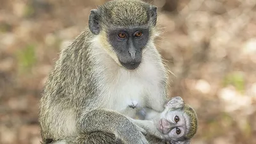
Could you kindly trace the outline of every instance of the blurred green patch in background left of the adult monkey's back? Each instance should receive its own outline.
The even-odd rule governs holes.
[[[36,62],[35,46],[27,45],[24,49],[18,51],[17,59],[21,71],[30,70]]]

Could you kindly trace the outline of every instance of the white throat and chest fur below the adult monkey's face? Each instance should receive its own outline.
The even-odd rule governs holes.
[[[95,38],[96,41],[97,38]],[[145,106],[146,98],[154,100],[153,103],[161,104],[163,100],[163,91],[165,88],[163,81],[166,79],[166,70],[161,62],[161,56],[157,52],[153,44],[148,46],[143,52],[141,64],[136,70],[127,70],[120,67],[104,49],[100,48],[100,42],[95,45],[98,49],[92,51],[97,56],[95,61],[104,63],[104,68],[98,70],[100,74],[104,74],[102,85],[100,86],[103,107],[114,111],[122,111],[131,104],[131,100],[138,102],[140,106]],[[100,59],[99,59],[100,58]],[[157,101],[158,100],[158,101]],[[155,106],[156,110],[163,106]]]

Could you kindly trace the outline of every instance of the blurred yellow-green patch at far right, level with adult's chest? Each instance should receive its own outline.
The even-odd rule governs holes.
[[[237,91],[241,93],[243,93],[245,89],[244,83],[244,76],[241,72],[232,72],[230,74],[227,74],[223,81],[224,86],[232,85],[236,88]]]

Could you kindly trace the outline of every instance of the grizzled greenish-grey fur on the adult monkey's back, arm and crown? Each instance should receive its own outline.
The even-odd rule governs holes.
[[[115,4],[118,7],[111,8]],[[110,1],[99,6],[102,12],[106,12],[106,17],[100,19],[105,24],[102,26],[108,26],[106,22],[109,21],[113,22],[112,28],[147,24],[148,13],[145,10],[148,7],[150,4],[135,0]],[[128,8],[132,11],[126,12]],[[138,15],[134,10],[141,14]],[[152,29],[150,28],[150,31]],[[117,144],[121,143],[120,141],[140,141],[138,136],[142,134],[136,125],[124,115],[104,109],[103,104],[108,97],[99,97],[99,93],[102,88],[100,82],[105,79],[101,74],[105,72],[106,65],[97,61],[99,55],[93,53],[93,38],[95,35],[85,28],[72,44],[60,52],[60,58],[49,74],[40,100],[39,122],[42,143],[51,142],[49,139],[53,140],[52,142],[63,140],[68,144]],[[167,76],[166,81],[163,81],[163,87],[167,92]],[[72,132],[67,128],[68,124],[64,121],[67,116],[76,120],[76,131]],[[98,130],[95,131],[95,128]],[[70,134],[67,134],[68,132]],[[123,140],[113,138],[115,135]]]

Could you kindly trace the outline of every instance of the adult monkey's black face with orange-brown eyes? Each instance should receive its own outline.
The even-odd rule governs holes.
[[[108,31],[112,45],[121,65],[134,70],[141,63],[142,49],[147,45],[149,31],[145,28],[126,28]]]

